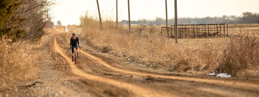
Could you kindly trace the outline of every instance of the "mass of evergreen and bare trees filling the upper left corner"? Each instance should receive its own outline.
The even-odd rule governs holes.
[[[1,0],[0,38],[38,40],[51,22],[50,6],[55,0]]]

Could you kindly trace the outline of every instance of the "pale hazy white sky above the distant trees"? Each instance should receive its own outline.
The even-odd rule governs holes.
[[[116,20],[116,0],[98,0],[101,17]],[[119,21],[128,20],[128,0],[118,0]],[[96,0],[58,0],[52,7],[53,22],[79,24],[86,11],[98,12]],[[174,0],[167,0],[168,18],[174,17]],[[177,0],[178,17],[241,16],[243,12],[259,13],[259,0]],[[97,15],[98,14],[92,14]],[[130,19],[166,18],[165,0],[130,0]]]

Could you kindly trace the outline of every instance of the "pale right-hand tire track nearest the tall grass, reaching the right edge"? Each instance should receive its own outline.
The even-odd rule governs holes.
[[[68,37],[68,35],[69,35],[69,33],[66,34],[66,37]],[[68,38],[67,38],[67,41],[69,42]],[[152,76],[152,77],[156,77],[156,78],[166,78],[166,79],[174,79],[174,80],[182,80],[182,81],[206,82],[206,83],[213,83],[213,84],[225,84],[225,85],[231,85],[231,86],[236,86],[236,87],[248,87],[248,88],[259,89],[259,84],[255,84],[255,83],[247,83],[247,82],[240,82],[240,81],[225,81],[225,80],[216,80],[216,79],[210,80],[210,79],[200,79],[200,78],[191,78],[191,77],[162,76],[162,75],[146,74],[146,73],[133,72],[133,71],[129,71],[129,70],[123,70],[123,69],[108,65],[101,58],[90,55],[89,53],[86,53],[85,51],[79,50],[79,52],[85,54],[86,56],[88,56],[89,58],[92,58],[93,60],[96,60],[96,62],[110,68],[111,70],[118,71],[118,72],[128,74],[128,75]],[[116,63],[114,63],[114,64],[116,64]],[[116,65],[118,65],[118,64],[116,64]]]

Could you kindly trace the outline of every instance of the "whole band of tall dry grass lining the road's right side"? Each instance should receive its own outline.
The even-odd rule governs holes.
[[[241,72],[259,71],[256,60],[259,59],[259,42],[256,35],[242,38],[179,39],[179,44],[175,44],[174,39],[161,36],[125,34],[114,29],[113,25],[114,23],[104,24],[105,29],[100,30],[97,19],[82,16],[82,38],[90,45],[110,53],[123,52],[129,59],[138,60],[139,64],[145,64],[148,68],[203,74],[219,71],[236,77],[245,74]],[[249,75],[253,76],[252,73]]]

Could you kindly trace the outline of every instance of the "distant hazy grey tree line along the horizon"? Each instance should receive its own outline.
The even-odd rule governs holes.
[[[128,20],[122,20],[121,24],[128,24]],[[204,17],[204,18],[191,18],[182,17],[178,18],[178,24],[254,24],[259,23],[259,13],[243,12],[241,16],[215,16],[215,17]],[[166,19],[161,17],[155,17],[154,20],[139,19],[138,21],[131,21],[131,24],[139,25],[166,25]],[[174,24],[174,18],[168,19],[168,25]]]

